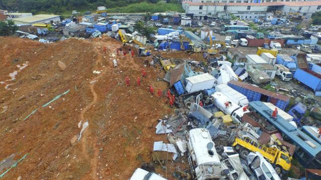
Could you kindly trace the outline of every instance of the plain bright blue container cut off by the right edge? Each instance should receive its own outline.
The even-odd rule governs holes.
[[[309,86],[314,92],[321,91],[321,75],[309,69],[297,68],[293,77]]]

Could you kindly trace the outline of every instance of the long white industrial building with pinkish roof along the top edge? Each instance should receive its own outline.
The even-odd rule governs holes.
[[[263,1],[263,0],[262,0]],[[267,0],[266,0],[267,1]],[[217,16],[218,13],[248,13],[243,15],[243,19],[257,18],[262,12],[279,10],[284,14],[289,12],[302,13],[303,16],[310,17],[313,12],[321,10],[321,0],[317,1],[274,1],[260,3],[222,3],[222,2],[191,2],[185,1],[182,3],[187,14],[193,14],[198,19],[204,19],[205,16]],[[253,15],[251,15],[253,14]]]

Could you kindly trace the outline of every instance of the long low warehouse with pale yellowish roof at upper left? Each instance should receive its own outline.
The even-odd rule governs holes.
[[[60,21],[60,15],[51,15],[51,14],[38,14],[29,17],[14,18],[13,21],[18,26],[20,25],[32,25],[33,23],[39,22],[58,22]]]

